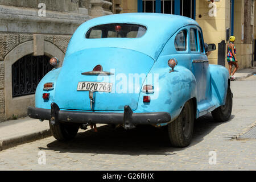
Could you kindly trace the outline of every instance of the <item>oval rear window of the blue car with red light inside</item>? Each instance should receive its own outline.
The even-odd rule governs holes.
[[[90,28],[86,33],[86,39],[101,38],[141,38],[147,28],[138,24],[112,23],[101,24]]]

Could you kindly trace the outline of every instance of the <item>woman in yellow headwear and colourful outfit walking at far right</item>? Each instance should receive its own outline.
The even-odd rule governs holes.
[[[229,38],[229,44],[227,46],[227,60],[229,63],[229,75],[230,75],[230,80],[236,80],[236,77],[234,77],[234,73],[236,73],[237,69],[238,69],[238,64],[237,64],[237,57],[236,57],[236,47],[234,46],[234,41],[236,40],[236,38],[234,36],[230,36]],[[232,66],[235,66],[236,68],[234,68],[234,71],[231,73],[232,71]]]

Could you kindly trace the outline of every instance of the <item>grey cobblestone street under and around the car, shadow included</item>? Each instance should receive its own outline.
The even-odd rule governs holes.
[[[256,76],[231,82],[232,118],[197,119],[186,148],[168,146],[164,129],[105,125],[98,133],[80,130],[67,143],[48,137],[0,151],[0,170],[256,170],[256,140],[239,138],[256,125],[255,83]],[[46,152],[46,164],[38,164],[39,151]],[[216,164],[209,164],[210,151],[216,152]]]

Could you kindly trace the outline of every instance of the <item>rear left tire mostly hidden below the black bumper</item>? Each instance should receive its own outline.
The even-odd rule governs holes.
[[[51,125],[51,122],[49,122],[49,127],[52,136],[59,141],[66,141],[75,138],[79,130],[79,126],[77,125],[68,125],[64,123]]]

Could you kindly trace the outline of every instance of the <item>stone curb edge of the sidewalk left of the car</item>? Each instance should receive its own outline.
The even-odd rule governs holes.
[[[50,136],[51,131],[47,129],[35,133],[20,135],[18,137],[0,140],[0,151],[6,150],[7,148],[18,146],[19,144],[33,142],[35,140],[43,139]]]

